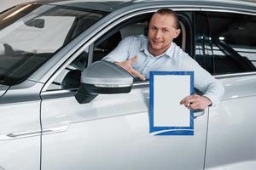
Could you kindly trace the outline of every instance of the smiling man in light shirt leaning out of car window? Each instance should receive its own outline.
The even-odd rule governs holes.
[[[195,88],[204,95],[189,95],[180,101],[180,105],[201,110],[217,105],[224,95],[224,87],[172,42],[180,33],[178,26],[177,14],[162,8],[150,20],[148,38],[143,35],[126,37],[104,59],[143,81],[149,77],[149,71],[195,71]]]

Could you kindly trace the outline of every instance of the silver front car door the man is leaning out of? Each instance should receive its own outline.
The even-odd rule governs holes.
[[[120,17],[104,32],[108,34],[115,28],[119,30],[120,23],[130,23],[130,20],[154,10]],[[96,42],[101,42],[101,38],[104,39],[104,36]],[[96,42],[84,45],[90,46],[83,52],[89,56],[89,63],[90,60],[97,60],[90,59],[91,55],[95,55],[91,50]],[[94,49],[96,51],[99,48],[97,46]],[[69,68],[62,68],[63,71],[70,71],[73,63]],[[62,77],[61,74],[55,75],[58,76]],[[148,84],[148,81],[135,82],[128,94],[99,94],[87,104],[79,104],[75,99],[76,88],[63,89],[61,85],[59,89],[48,88],[43,91],[42,170],[202,169],[208,110],[195,118],[193,136],[154,136],[149,133]]]

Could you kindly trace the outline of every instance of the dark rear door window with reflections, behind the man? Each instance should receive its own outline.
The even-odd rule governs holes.
[[[216,12],[207,15],[212,37],[213,74],[256,71],[256,16]]]

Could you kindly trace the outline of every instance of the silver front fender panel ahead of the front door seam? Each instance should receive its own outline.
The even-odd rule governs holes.
[[[0,170],[40,169],[40,100],[15,93],[9,89],[0,100]]]

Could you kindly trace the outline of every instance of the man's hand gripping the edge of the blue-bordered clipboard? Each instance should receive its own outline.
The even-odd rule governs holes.
[[[212,101],[205,96],[193,94],[182,99],[180,105],[185,105],[188,109],[204,110],[208,105],[212,105]]]

